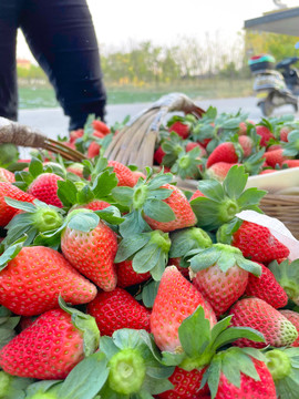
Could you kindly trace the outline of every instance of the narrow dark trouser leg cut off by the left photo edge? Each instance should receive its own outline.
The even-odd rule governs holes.
[[[0,1],[0,116],[18,119],[16,43],[23,0]]]

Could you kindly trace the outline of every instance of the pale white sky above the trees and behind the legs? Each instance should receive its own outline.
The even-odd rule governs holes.
[[[299,0],[281,0],[299,7]],[[272,0],[87,0],[100,48],[120,50],[128,43],[151,41],[175,45],[179,38],[205,41],[221,38],[228,42],[243,31],[244,21],[278,10]],[[17,57],[33,61],[22,34]]]

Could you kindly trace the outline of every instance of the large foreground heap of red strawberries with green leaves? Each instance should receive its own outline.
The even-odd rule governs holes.
[[[240,163],[192,196],[101,152],[0,168],[0,398],[298,399],[299,259]]]

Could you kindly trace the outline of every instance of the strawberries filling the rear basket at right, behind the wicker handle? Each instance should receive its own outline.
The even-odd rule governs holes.
[[[233,165],[249,175],[299,166],[299,123],[293,115],[262,119],[218,114],[209,108],[200,120],[173,116],[161,127],[154,161],[182,178],[223,181]]]

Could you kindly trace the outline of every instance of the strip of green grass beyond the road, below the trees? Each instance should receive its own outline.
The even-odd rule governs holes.
[[[182,92],[194,100],[239,98],[252,94],[251,80],[197,80],[155,86],[115,86],[106,84],[109,104],[154,102],[171,92]],[[54,91],[50,85],[21,85],[19,88],[19,108],[30,110],[59,106]]]

